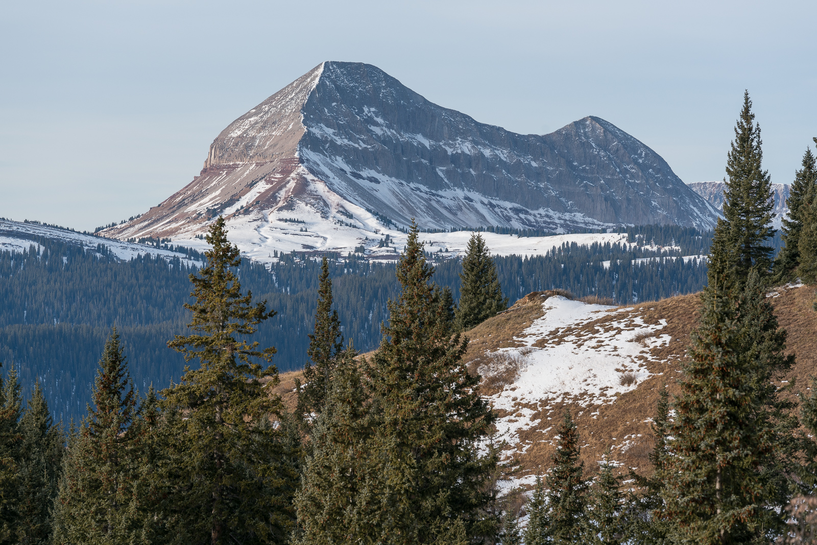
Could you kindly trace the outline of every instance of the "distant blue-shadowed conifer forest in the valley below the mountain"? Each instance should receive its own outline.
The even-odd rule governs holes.
[[[677,226],[634,227],[627,234],[631,242],[680,249],[659,256],[618,244],[589,248],[573,244],[547,256],[497,257],[502,292],[511,304],[548,288],[624,304],[703,287],[705,264],[676,257],[706,254],[711,234]],[[397,294],[395,266],[355,256],[331,257],[335,305],[344,334],[358,350],[371,350],[380,342],[386,301]],[[245,262],[237,271],[244,291],[252,290],[254,300],[266,299],[278,311],[257,340],[278,349],[274,363],[281,371],[301,369],[306,361],[319,266],[315,257],[293,252],[282,254],[274,265]],[[438,261],[435,266],[435,282],[449,286],[457,301],[459,260]],[[12,363],[19,366],[24,388],[39,379],[57,419],[78,418],[86,412],[105,339],[116,326],[136,386],[141,391],[151,383],[167,386],[184,367],[181,355],[166,342],[185,333],[190,315],[183,305],[190,301],[188,275],[195,272],[179,259],[141,256],[117,261],[101,244],[82,248],[38,237],[32,238],[28,251],[0,252],[3,370]]]

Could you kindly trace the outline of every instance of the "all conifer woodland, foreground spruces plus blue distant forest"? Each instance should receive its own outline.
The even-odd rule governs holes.
[[[36,237],[0,253],[0,545],[815,543],[817,378],[784,395],[796,362],[767,293],[817,283],[817,162],[776,234],[761,158],[747,92],[717,227],[627,227],[632,247],[495,257],[475,230],[439,260],[413,223],[396,264],[262,265],[218,217],[208,251],[176,248],[199,266]],[[511,504],[467,332],[554,289],[699,293],[698,321],[650,467],[589,467],[565,411]],[[294,407],[270,393],[290,370]]]

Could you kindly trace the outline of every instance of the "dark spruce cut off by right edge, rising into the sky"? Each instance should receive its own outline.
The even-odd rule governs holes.
[[[783,218],[784,247],[775,259],[775,279],[779,282],[794,277],[800,265],[800,239],[803,230],[803,215],[807,214],[812,195],[817,184],[817,162],[810,148],[806,148],[800,170],[795,172],[794,181],[789,187],[788,216]]]

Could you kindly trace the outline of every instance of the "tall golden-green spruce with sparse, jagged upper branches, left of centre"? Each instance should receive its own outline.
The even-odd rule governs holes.
[[[269,362],[275,348],[258,348],[246,337],[257,324],[275,315],[266,302],[252,304],[241,294],[231,267],[238,267],[238,248],[227,239],[225,221],[212,223],[206,240],[207,264],[190,275],[193,333],[176,336],[168,346],[199,360],[185,367],[180,382],[163,391],[163,410],[175,418],[178,514],[190,543],[284,543],[292,528],[290,505],[295,476],[281,452],[269,418],[282,411],[278,397],[268,395],[278,382]],[[262,384],[261,379],[266,381]]]

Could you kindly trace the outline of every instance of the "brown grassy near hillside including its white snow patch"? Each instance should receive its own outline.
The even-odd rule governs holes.
[[[802,389],[817,373],[814,296],[809,287],[770,293],[788,330],[788,350],[797,355],[784,380],[797,380]],[[467,332],[466,360],[483,375],[483,394],[498,411],[498,439],[507,442],[503,458],[520,466],[507,485],[530,485],[549,467],[565,409],[577,422],[588,471],[609,446],[625,467],[649,472],[650,419],[659,389],[678,391],[698,306],[697,294],[605,306],[538,292]],[[298,375],[282,375],[276,389],[288,404]],[[623,384],[627,377],[632,383]]]

